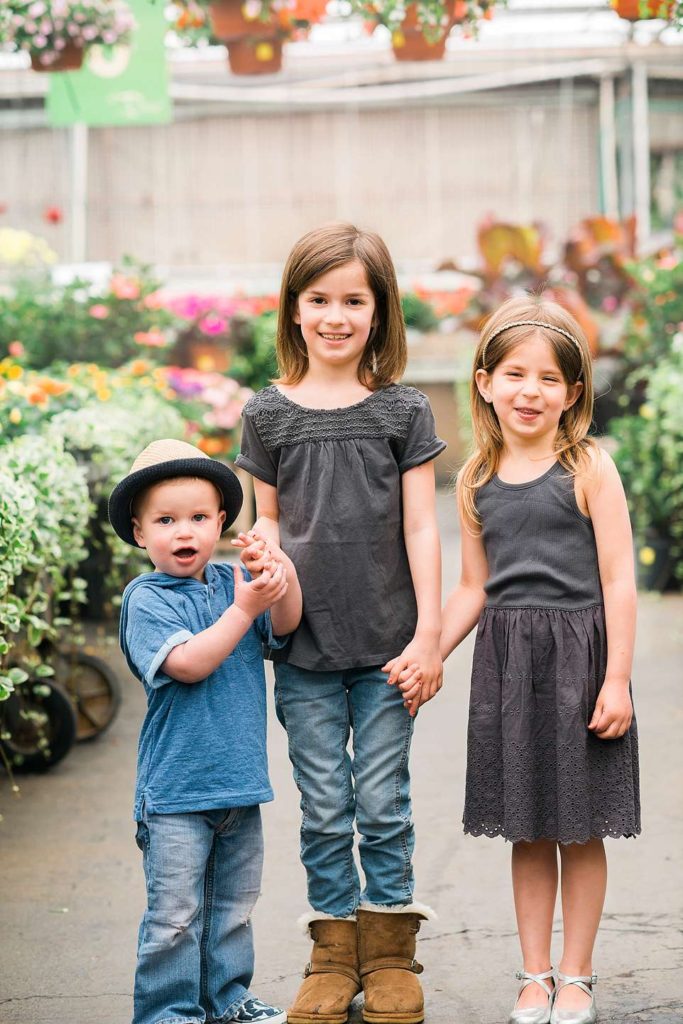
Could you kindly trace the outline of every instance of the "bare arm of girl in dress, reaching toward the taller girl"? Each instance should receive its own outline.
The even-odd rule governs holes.
[[[460,480],[458,481],[460,487]],[[458,644],[476,626],[486,600],[484,584],[488,579],[488,562],[476,524],[460,518],[461,572],[460,583],[451,592],[443,608],[441,657],[446,659]]]

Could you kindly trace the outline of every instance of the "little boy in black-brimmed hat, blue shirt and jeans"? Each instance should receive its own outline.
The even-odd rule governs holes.
[[[261,645],[285,644],[301,592],[274,545],[256,580],[210,562],[241,506],[231,470],[177,440],[150,444],[110,498],[114,529],[146,548],[156,570],[126,587],[121,606],[121,646],[147,696],[135,786],[147,908],[133,1024],[287,1020],[249,990],[249,918],[259,805],[272,800]]]

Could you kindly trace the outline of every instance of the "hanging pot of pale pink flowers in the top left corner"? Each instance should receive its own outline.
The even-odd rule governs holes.
[[[124,0],[5,0],[0,42],[26,50],[34,71],[73,71],[94,44],[130,40],[135,19]]]

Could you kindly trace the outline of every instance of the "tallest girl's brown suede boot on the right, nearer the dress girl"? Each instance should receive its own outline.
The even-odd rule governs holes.
[[[371,1024],[419,1024],[425,1019],[422,986],[415,959],[419,912],[358,910],[358,956],[366,1002],[362,1019]]]

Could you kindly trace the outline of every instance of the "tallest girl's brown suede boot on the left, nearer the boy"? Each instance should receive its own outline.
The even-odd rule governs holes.
[[[310,963],[303,975],[289,1024],[345,1024],[360,991],[358,938],[354,921],[312,921]]]

